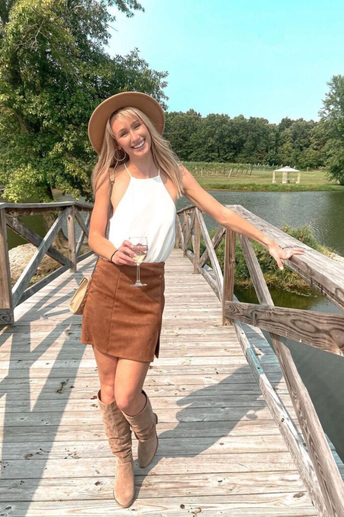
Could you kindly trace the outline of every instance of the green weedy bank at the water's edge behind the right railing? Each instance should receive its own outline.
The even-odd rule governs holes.
[[[289,224],[285,223],[281,230],[283,230],[288,235],[300,240],[304,244],[312,247],[313,249],[323,253],[326,256],[330,256],[334,253],[334,250],[322,246],[314,237],[312,232],[310,231],[310,227],[305,224],[303,226],[299,226],[297,228],[291,228]],[[216,229],[209,231],[209,235],[212,238],[216,232]],[[255,252],[255,255],[258,259],[261,270],[263,271],[263,275],[265,281],[269,288],[277,288],[280,290],[289,291],[290,293],[301,294],[303,296],[309,296],[313,290],[310,285],[305,282],[299,275],[291,271],[287,266],[281,270],[277,266],[275,259],[270,255],[269,251],[259,244],[259,242],[255,240],[251,240],[252,246]],[[223,257],[224,257],[224,239],[220,242],[218,248],[216,249],[216,255],[218,257],[218,261],[223,273]],[[192,244],[188,245],[188,249],[193,251]],[[205,251],[205,242],[203,237],[201,237],[201,255]],[[207,261],[206,264],[211,267],[210,261]],[[239,244],[238,238],[236,239],[235,246],[235,275],[234,275],[234,286],[241,288],[252,288],[253,283],[250,277],[250,273],[248,267],[246,265],[241,246]]]

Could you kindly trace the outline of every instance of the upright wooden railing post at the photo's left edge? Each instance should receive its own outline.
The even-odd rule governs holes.
[[[6,210],[0,208],[0,325],[14,323],[10,261],[8,255]]]

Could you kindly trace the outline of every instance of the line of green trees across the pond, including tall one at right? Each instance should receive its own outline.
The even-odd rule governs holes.
[[[284,117],[271,124],[263,117],[174,111],[166,114],[166,135],[182,160],[324,167],[344,185],[344,76],[327,85],[319,121]]]

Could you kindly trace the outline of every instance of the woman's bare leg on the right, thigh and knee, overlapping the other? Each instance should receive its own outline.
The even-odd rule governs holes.
[[[142,387],[149,366],[150,362],[118,357],[114,396],[118,407],[127,415],[137,415],[145,406],[146,398]]]

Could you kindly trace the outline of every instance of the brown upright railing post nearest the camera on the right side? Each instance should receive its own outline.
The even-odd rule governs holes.
[[[235,238],[236,233],[226,227],[222,294],[222,325],[226,327],[233,326],[232,320],[224,315],[224,303],[234,299]]]

